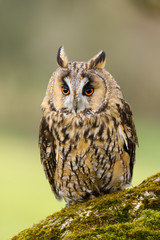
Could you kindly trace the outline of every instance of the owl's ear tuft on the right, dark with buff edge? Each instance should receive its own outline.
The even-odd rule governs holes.
[[[95,57],[89,61],[90,69],[102,69],[106,64],[106,54],[104,51],[100,51]]]

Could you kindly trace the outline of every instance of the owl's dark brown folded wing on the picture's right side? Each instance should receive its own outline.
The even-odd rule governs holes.
[[[124,138],[124,148],[130,156],[130,174],[132,178],[133,166],[135,163],[135,149],[138,145],[136,128],[132,117],[132,112],[128,103],[123,100],[123,108],[120,110],[120,131]]]

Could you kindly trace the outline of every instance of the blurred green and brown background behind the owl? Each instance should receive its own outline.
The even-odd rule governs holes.
[[[160,3],[0,0],[0,239],[60,210],[40,163],[40,104],[64,45],[100,50],[130,103],[139,137],[132,184],[160,170]]]

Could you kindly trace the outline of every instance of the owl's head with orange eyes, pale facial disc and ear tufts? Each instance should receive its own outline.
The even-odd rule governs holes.
[[[95,113],[107,107],[115,96],[122,97],[119,86],[104,67],[106,54],[100,51],[88,62],[69,62],[60,47],[57,53],[59,68],[53,73],[42,103],[66,113]]]

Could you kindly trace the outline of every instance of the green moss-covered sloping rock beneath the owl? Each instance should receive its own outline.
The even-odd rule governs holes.
[[[160,173],[139,186],[65,207],[12,240],[160,239]]]

